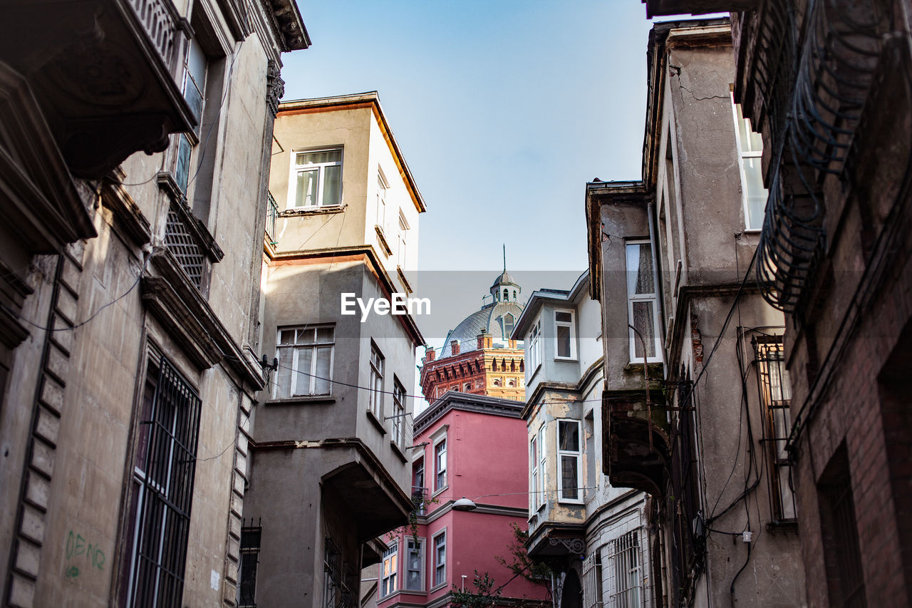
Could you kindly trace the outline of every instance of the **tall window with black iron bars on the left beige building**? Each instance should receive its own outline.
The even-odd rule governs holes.
[[[130,488],[129,606],[182,605],[202,403],[171,362],[150,357]]]

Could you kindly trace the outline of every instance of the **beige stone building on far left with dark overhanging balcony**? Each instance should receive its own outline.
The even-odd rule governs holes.
[[[236,605],[261,175],[309,40],[294,3],[134,6],[2,26],[4,605]]]

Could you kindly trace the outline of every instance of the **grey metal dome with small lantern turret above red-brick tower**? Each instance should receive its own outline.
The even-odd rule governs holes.
[[[492,303],[472,312],[447,334],[439,358],[452,355],[450,342],[454,340],[460,342],[460,352],[478,350],[478,334],[482,332],[491,334],[494,348],[507,348],[516,321],[523,314],[523,305],[516,301],[521,291],[504,270],[491,286]]]

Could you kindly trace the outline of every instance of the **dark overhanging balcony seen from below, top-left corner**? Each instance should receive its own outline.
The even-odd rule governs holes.
[[[70,173],[98,178],[195,125],[179,84],[189,32],[171,0],[12,0],[0,57],[27,79]]]

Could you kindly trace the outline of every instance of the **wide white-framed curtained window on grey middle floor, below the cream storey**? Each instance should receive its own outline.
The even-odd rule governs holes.
[[[334,328],[305,325],[278,330],[279,369],[273,397],[329,394],[332,386]]]

